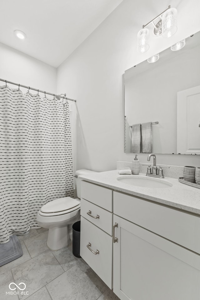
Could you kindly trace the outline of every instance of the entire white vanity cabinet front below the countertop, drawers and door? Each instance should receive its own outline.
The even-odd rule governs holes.
[[[80,255],[121,300],[200,299],[199,215],[86,181],[81,193]]]

